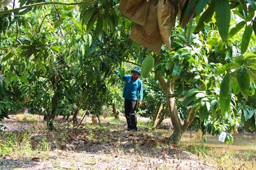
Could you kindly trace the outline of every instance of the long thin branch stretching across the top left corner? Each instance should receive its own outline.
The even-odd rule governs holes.
[[[40,2],[40,3],[25,5],[23,7],[19,7],[19,8],[15,8],[15,9],[9,9],[9,10],[6,10],[6,11],[1,11],[0,15],[2,15],[2,14],[9,14],[9,13],[12,13],[12,12],[19,12],[22,9],[38,7],[38,6],[42,6],[42,5],[67,5],[67,6],[79,5],[79,4],[92,5],[92,4],[95,4],[96,2],[97,2],[96,0],[87,0],[87,1],[83,1],[83,2],[73,2],[73,3],[66,3],[66,2]]]

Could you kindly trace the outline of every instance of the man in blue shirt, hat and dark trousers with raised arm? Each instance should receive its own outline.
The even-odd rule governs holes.
[[[119,71],[116,69],[114,70],[116,75],[120,76]],[[124,110],[125,110],[125,116],[128,131],[137,131],[137,117],[136,117],[136,108],[137,108],[137,100],[139,99],[138,105],[141,105],[142,102],[142,82],[138,78],[140,75],[140,68],[135,67],[133,70],[131,70],[133,75],[124,75],[122,79],[126,81],[126,85],[123,90],[123,98],[124,100]],[[139,95],[139,97],[138,97]]]

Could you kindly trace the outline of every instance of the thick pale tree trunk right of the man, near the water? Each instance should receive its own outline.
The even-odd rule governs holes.
[[[182,126],[182,124],[180,122],[180,118],[178,116],[175,98],[170,97],[174,93],[175,80],[168,79],[166,82],[163,76],[159,77],[158,80],[159,80],[159,83],[160,83],[162,89],[164,90],[164,92],[166,94],[168,111],[169,111],[170,118],[171,118],[171,121],[172,121],[173,127],[174,127],[173,134],[171,135],[171,141],[173,143],[178,143],[178,142],[180,142],[180,139],[183,134],[183,126]]]

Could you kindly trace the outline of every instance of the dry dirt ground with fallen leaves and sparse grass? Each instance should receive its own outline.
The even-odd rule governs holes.
[[[9,132],[34,130],[35,124],[43,127],[42,117],[32,125],[11,115],[3,124]],[[122,118],[124,119],[124,118]],[[143,119],[138,121],[149,121]],[[103,126],[88,128],[62,128],[55,132],[31,134],[31,153],[12,154],[0,157],[0,170],[216,170],[217,168],[200,160],[178,145],[170,144],[167,138],[139,129],[126,131],[125,124],[102,121]],[[85,122],[91,124],[90,118]],[[69,122],[70,123],[70,122]],[[108,130],[104,127],[114,127]],[[103,127],[103,128],[102,128]],[[94,134],[93,138],[89,136]],[[50,146],[48,151],[40,151],[43,137]]]

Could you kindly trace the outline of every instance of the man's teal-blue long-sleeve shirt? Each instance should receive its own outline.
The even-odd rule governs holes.
[[[115,73],[121,77],[119,71],[115,70]],[[137,100],[137,96],[139,95],[139,100],[142,101],[142,82],[139,78],[134,81],[132,77],[132,75],[124,75],[122,77],[122,79],[126,81],[126,85],[123,90],[123,98],[128,100]]]

